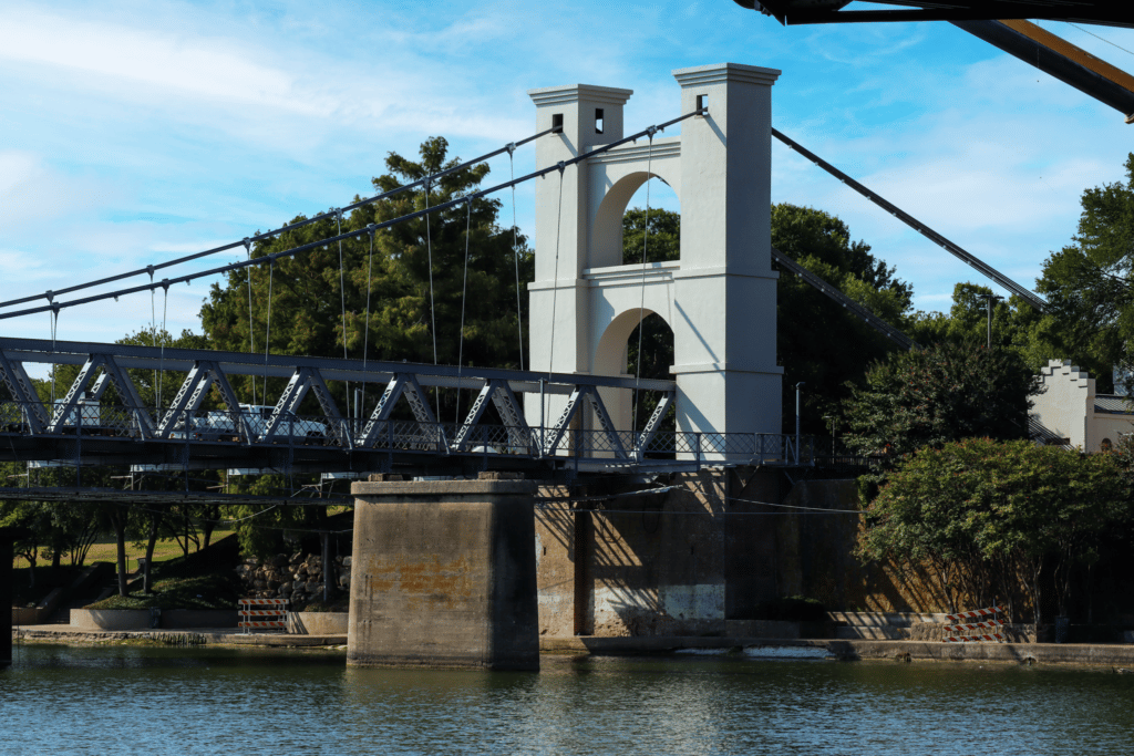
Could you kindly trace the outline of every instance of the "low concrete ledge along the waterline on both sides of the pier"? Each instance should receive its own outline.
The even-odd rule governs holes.
[[[12,640],[27,643],[107,644],[159,643],[186,646],[261,646],[324,648],[346,652],[346,635],[285,635],[234,632],[231,628],[186,630],[88,630],[64,625],[43,625],[12,630]],[[1134,645],[931,643],[921,640],[775,639],[744,637],[596,637],[540,638],[543,654],[638,656],[682,653],[745,653],[761,655],[828,656],[843,661],[987,662],[1110,666],[1134,670]]]

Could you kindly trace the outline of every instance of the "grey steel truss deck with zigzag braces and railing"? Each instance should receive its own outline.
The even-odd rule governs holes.
[[[27,363],[75,365],[74,383],[52,406],[37,397]],[[175,371],[185,381],[168,407],[144,406],[129,371]],[[533,373],[411,363],[268,356],[112,343],[0,339],[0,373],[11,400],[0,404],[0,461],[134,465],[169,470],[279,473],[408,472],[469,475],[483,470],[543,474],[678,472],[703,465],[814,465],[810,436],[661,431],[672,381]],[[262,414],[236,398],[231,375],[288,379]],[[373,387],[369,416],[348,417],[329,381]],[[103,401],[113,387],[117,404]],[[426,389],[475,392],[462,423],[442,423]],[[660,394],[641,432],[617,430],[600,389]],[[223,410],[203,410],[210,392]],[[320,415],[299,415],[310,394]],[[565,397],[551,423],[533,425],[519,394]],[[502,424],[488,424],[492,404]],[[398,407],[403,417],[395,416]]]

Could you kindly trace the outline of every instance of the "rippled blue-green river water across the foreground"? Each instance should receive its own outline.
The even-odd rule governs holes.
[[[1134,676],[975,663],[19,645],[3,754],[1131,754]]]

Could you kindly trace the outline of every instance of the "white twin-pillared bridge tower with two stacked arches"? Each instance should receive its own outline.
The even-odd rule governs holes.
[[[674,331],[678,431],[780,433],[770,237],[778,76],[738,63],[675,70],[680,112],[703,103],[706,114],[682,121],[679,136],[620,145],[538,181],[531,369],[623,374],[617,360],[644,309]],[[530,91],[538,130],[562,129],[538,142],[536,164],[621,139],[632,94],[584,84]],[[680,260],[623,265],[623,213],[649,176],[680,202]],[[629,393],[602,391],[620,430],[629,430]],[[557,417],[565,400],[527,401],[534,419]]]

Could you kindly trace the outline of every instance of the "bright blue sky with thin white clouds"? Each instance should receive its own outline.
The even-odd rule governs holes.
[[[1134,70],[1114,46],[1134,50],[1134,29],[1086,27],[1108,44],[1042,25]],[[785,28],[730,0],[9,0],[3,298],[346,204],[371,192],[389,152],[415,155],[428,136],[463,158],[488,152],[534,130],[530,88],[632,88],[627,130],[645,128],[679,114],[672,69],[721,61],[781,69],[777,128],[1030,288],[1074,233],[1083,189],[1122,180],[1134,144],[1117,111],[948,24]],[[788,150],[773,145],[772,158],[773,201],[843,218],[914,284],[917,308],[947,309],[954,283],[984,282]],[[534,168],[530,147],[517,152],[517,173]],[[508,172],[496,160],[489,180]],[[651,192],[677,210],[668,189]],[[532,190],[517,203],[531,232]],[[170,331],[197,329],[205,291],[171,290]],[[162,307],[159,295],[159,320]],[[59,338],[113,340],[150,318],[150,297],[135,295],[64,311]],[[45,338],[49,317],[3,332]]]

